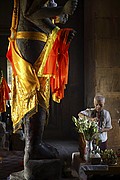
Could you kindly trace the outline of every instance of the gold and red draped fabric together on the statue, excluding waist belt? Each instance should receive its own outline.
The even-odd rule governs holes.
[[[7,58],[13,67],[12,121],[14,132],[21,127],[22,118],[37,112],[37,105],[49,109],[50,85],[53,100],[60,102],[68,79],[67,37],[70,29],[55,28],[48,37],[42,53],[32,66],[25,61],[10,40]],[[29,33],[29,32],[28,32]]]

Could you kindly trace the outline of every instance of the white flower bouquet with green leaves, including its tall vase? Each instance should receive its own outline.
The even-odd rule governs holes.
[[[98,139],[98,123],[86,116],[78,119],[72,116],[72,121],[75,124],[76,130],[79,133],[79,151],[80,157],[87,162],[90,161],[90,154],[92,153],[92,141]]]

